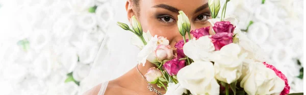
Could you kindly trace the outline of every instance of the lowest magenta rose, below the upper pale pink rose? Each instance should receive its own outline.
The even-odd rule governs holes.
[[[179,60],[178,58],[174,58],[166,62],[163,66],[170,76],[174,76],[179,72],[181,68],[185,67],[186,64],[185,60]]]

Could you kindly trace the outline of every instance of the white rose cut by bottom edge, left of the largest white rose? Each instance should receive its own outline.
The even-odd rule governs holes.
[[[165,95],[182,95],[183,93],[187,93],[187,90],[180,83],[168,83]]]

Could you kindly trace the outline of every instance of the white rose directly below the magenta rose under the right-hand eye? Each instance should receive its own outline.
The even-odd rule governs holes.
[[[194,61],[210,61],[210,56],[215,51],[215,46],[209,36],[189,40],[183,47],[184,54]]]

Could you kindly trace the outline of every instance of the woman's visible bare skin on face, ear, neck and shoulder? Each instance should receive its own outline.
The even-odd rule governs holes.
[[[136,15],[140,21],[143,30],[150,31],[151,35],[158,35],[166,37],[172,49],[174,44],[183,39],[177,28],[178,11],[182,10],[188,16],[191,24],[191,30],[211,26],[208,19],[210,19],[210,10],[208,7],[208,0],[141,0],[139,2],[139,11],[133,6],[131,0],[126,1],[125,9],[127,18],[131,23],[131,17]],[[212,29],[212,28],[211,28]],[[186,38],[187,35],[186,35]],[[174,50],[175,54],[176,51]],[[146,62],[145,66],[137,65],[141,74],[146,74],[150,67],[156,67],[155,64]],[[159,88],[152,84],[157,90],[165,93],[164,88]],[[84,94],[96,95],[100,90],[101,84],[93,87]],[[112,94],[155,94],[147,89],[147,82],[138,73],[136,67],[121,77],[109,81],[105,95]]]

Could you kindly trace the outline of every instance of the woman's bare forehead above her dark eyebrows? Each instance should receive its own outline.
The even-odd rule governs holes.
[[[156,5],[165,4],[182,10],[185,13],[189,13],[207,3],[208,0],[141,0],[141,9],[152,8]]]

